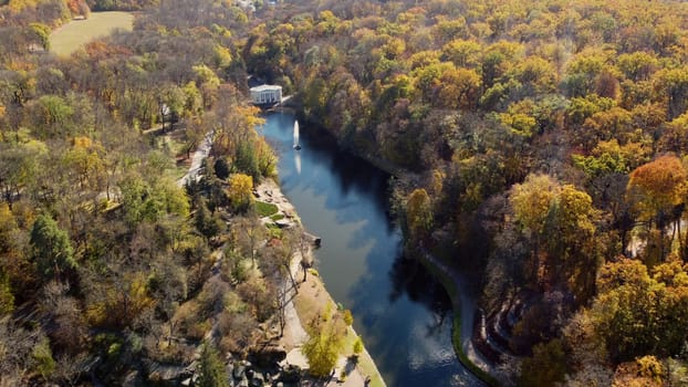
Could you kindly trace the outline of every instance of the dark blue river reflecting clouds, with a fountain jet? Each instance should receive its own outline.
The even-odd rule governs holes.
[[[352,310],[354,327],[388,386],[481,386],[451,346],[451,302],[423,265],[402,257],[388,215],[388,176],[338,151],[294,115],[271,113],[259,128],[277,150],[284,195],[307,231],[322,238],[316,268],[327,291]]]

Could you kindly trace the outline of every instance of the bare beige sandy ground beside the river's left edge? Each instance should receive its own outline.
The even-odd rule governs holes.
[[[290,221],[291,227],[301,227],[294,207],[286,200],[279,186],[273,180],[267,179],[258,186],[256,190],[258,192],[258,200],[274,203],[278,206],[279,210],[284,213],[284,219]],[[312,254],[312,251],[309,251],[309,253]],[[327,303],[335,303],[317,276],[309,274],[306,275],[307,281],[302,282],[303,271],[300,265],[301,259],[301,252],[296,251],[291,263],[292,274],[299,283],[299,293],[295,294],[291,282],[289,280],[285,281],[285,286],[290,287],[288,296],[290,301],[285,307],[286,325],[284,326],[284,335],[281,344],[288,349],[285,363],[307,368],[307,359],[300,349],[301,345],[307,339],[307,333],[303,328],[301,318],[294,307],[295,297],[300,297],[300,300],[302,300],[301,302],[306,302],[309,305],[314,304],[319,308],[324,308]],[[350,327],[347,334],[355,335],[356,333]],[[365,349],[361,356],[366,356],[369,359],[369,354]],[[342,369],[345,369],[346,374],[344,381],[338,380]],[[346,356],[341,355],[334,370],[334,376],[330,380],[307,380],[303,385],[362,387],[365,385],[366,376],[367,375],[364,375],[359,367],[354,367],[351,362],[347,360]]]

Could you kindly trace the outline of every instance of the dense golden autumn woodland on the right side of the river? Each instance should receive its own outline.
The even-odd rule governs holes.
[[[252,27],[247,67],[398,177],[411,253],[482,270],[489,320],[517,311],[500,377],[685,380],[688,6],[314,7]]]

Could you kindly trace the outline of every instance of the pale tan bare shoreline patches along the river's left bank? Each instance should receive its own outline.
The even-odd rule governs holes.
[[[278,213],[281,212],[284,215],[284,219],[289,219],[290,221],[289,227],[294,227],[301,231],[305,231],[305,228],[301,223],[301,219],[299,218],[295,207],[289,201],[289,199],[286,199],[279,184],[273,178],[263,180],[260,185],[256,187],[256,191],[258,192],[257,200],[270,202],[278,207]],[[263,221],[267,221],[267,220],[263,220]],[[307,259],[311,262],[314,262],[315,253],[311,247],[309,247],[306,254],[310,255],[307,257]],[[290,270],[294,278],[298,278],[298,275],[301,273],[302,259],[303,257],[301,254],[301,251],[296,249],[296,251],[294,252],[292,257],[292,261],[290,264]],[[285,305],[285,315],[286,315],[286,324],[284,326],[285,337],[283,338],[284,343],[282,343],[286,348],[291,349],[289,351],[286,362],[290,364],[296,364],[299,366],[303,365],[304,366],[303,368],[307,368],[307,362],[303,364],[305,358],[300,353],[300,346],[305,342],[305,339],[307,339],[307,334],[305,332],[303,323],[301,322],[303,316],[299,314],[299,307],[296,307],[295,305],[298,301],[296,299],[307,297],[305,302],[310,302],[314,304],[319,302],[322,303],[323,301],[321,300],[324,300],[325,304],[331,303],[333,305],[337,305],[335,300],[327,292],[320,275],[311,273],[311,275],[309,275],[307,278],[309,278],[307,282],[301,283],[298,281],[301,284],[300,286],[298,286],[299,287],[298,293],[293,294],[293,296],[292,294],[290,294],[289,296],[289,302]],[[289,281],[285,281],[285,282],[289,282]],[[307,292],[307,287],[313,287],[315,291]],[[302,291],[302,290],[306,290],[306,291]],[[319,297],[319,294],[322,294],[323,296]],[[348,339],[358,337],[358,334],[353,328],[353,326],[347,327],[347,336],[350,335],[351,337],[347,337]],[[362,353],[358,355],[359,360],[357,363],[357,366],[355,366],[347,374],[345,380],[340,380],[338,376],[340,376],[341,369],[345,369],[346,364],[347,364],[346,354],[347,354],[347,351],[345,349],[344,353],[340,355],[340,358],[337,360],[337,366],[335,367],[335,373],[334,373],[335,376],[330,379],[326,386],[359,387],[359,386],[364,386],[364,380],[366,379],[366,377],[371,378],[371,383],[369,383],[371,387],[386,387],[387,386],[384,378],[382,377],[382,374],[377,369],[377,365],[375,364],[375,362],[371,357],[371,354],[365,347],[365,343],[363,345]],[[362,369],[362,368],[365,368],[365,369]]]

